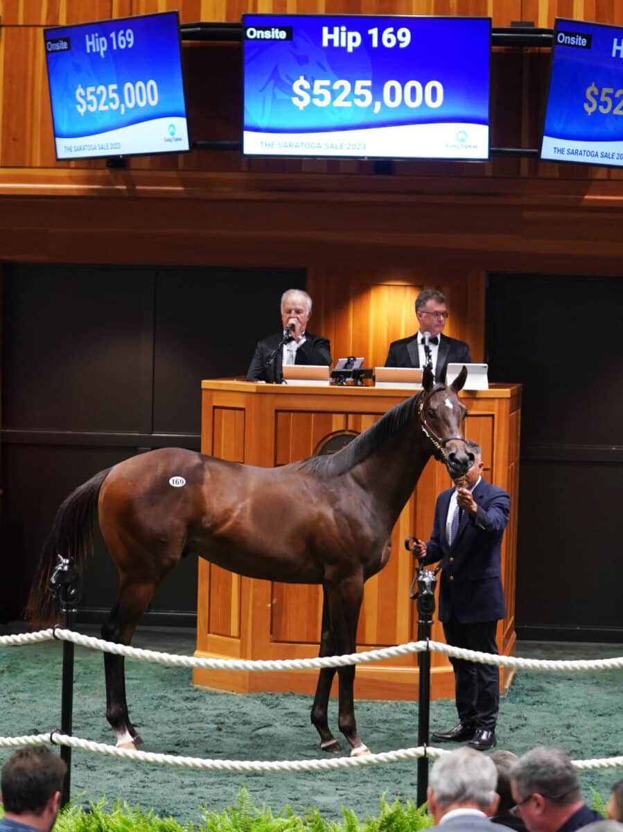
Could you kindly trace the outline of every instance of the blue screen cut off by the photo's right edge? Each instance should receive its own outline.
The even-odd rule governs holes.
[[[623,166],[623,27],[556,18],[541,159]]]

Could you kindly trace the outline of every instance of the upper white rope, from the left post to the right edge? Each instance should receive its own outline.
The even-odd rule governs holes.
[[[156,664],[176,667],[199,667],[204,670],[229,670],[229,671],[299,671],[309,668],[322,667],[345,667],[349,665],[366,664],[372,661],[383,661],[397,656],[407,656],[409,653],[421,653],[427,649],[452,656],[457,659],[467,659],[480,664],[498,665],[501,667],[515,667],[518,670],[536,671],[595,671],[595,670],[618,670],[623,668],[623,656],[616,656],[611,659],[576,659],[549,661],[547,659],[523,659],[515,656],[498,656],[492,653],[482,653],[475,650],[465,650],[462,647],[452,647],[443,644],[441,641],[408,641],[406,644],[399,644],[391,647],[382,647],[378,650],[368,650],[362,653],[348,653],[344,656],[323,656],[310,659],[274,659],[255,660],[250,659],[209,659],[195,658],[194,656],[176,656],[172,653],[163,653],[153,650],[142,650],[140,647],[129,647],[116,644],[114,641],[105,641],[101,638],[83,636],[82,633],[72,630],[65,630],[62,627],[54,627],[52,631],[45,630],[43,633],[52,632],[52,635],[61,641],[73,641],[82,647],[91,650],[113,653],[116,656],[127,656],[138,661],[153,661]],[[42,639],[43,640],[43,639]]]

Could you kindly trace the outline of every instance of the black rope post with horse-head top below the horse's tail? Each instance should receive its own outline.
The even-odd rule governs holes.
[[[57,554],[57,565],[50,578],[50,592],[61,604],[63,623],[67,630],[72,630],[76,622],[77,605],[82,597],[82,577],[71,558]],[[72,734],[73,722],[73,641],[62,642],[62,695],[61,695],[61,731]],[[61,745],[61,759],[67,764],[67,774],[62,787],[61,805],[67,805],[72,790],[72,749]]]

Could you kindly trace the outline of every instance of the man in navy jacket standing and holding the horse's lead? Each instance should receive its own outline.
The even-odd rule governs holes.
[[[415,540],[412,550],[424,564],[442,562],[439,620],[447,644],[497,653],[497,621],[506,614],[501,545],[511,498],[481,476],[482,450],[472,441],[472,467],[439,494],[433,535]],[[499,706],[497,665],[450,659],[454,671],[458,724],[433,734],[436,742],[465,742],[479,751],[496,744]]]

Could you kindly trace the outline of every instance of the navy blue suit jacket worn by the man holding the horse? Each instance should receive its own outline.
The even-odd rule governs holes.
[[[502,589],[501,545],[511,498],[502,488],[482,479],[472,492],[478,509],[463,512],[457,537],[448,546],[447,509],[453,488],[439,494],[433,534],[424,563],[442,562],[439,582],[439,620],[462,623],[491,622],[506,614]]]

